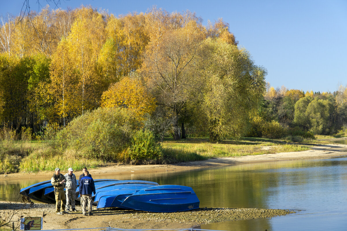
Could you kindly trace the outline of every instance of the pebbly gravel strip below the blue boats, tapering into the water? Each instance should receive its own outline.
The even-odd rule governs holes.
[[[24,213],[41,214],[45,211],[45,214],[55,213],[55,204],[29,204],[23,203],[9,203],[0,202],[0,210],[19,210],[23,208]],[[71,216],[78,216],[81,213],[81,206],[76,205],[76,209],[80,212],[70,213]],[[191,225],[199,225],[206,223],[214,223],[221,221],[232,220],[247,220],[266,218],[274,216],[282,216],[290,213],[295,213],[294,210],[283,209],[262,209],[262,208],[197,208],[195,210],[170,212],[170,213],[153,213],[136,210],[122,210],[119,208],[102,208],[96,209],[93,206],[93,213],[95,216],[103,215],[103,218],[112,216],[112,223],[122,223],[124,221],[142,221],[142,222],[167,222],[167,223],[185,223]],[[117,215],[115,215],[117,214]],[[48,217],[47,217],[48,218]],[[72,218],[72,217],[71,217]],[[111,218],[111,217],[110,217]]]

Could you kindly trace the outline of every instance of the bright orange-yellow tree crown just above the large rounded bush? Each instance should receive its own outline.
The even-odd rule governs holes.
[[[138,121],[143,121],[145,114],[155,110],[155,100],[139,80],[125,77],[102,94],[101,106],[127,108]]]

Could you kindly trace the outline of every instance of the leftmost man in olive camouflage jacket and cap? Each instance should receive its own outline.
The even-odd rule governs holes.
[[[66,197],[64,193],[65,176],[60,174],[60,168],[54,170],[54,174],[51,178],[51,184],[54,186],[54,195],[56,196],[56,214],[62,215],[65,212]]]

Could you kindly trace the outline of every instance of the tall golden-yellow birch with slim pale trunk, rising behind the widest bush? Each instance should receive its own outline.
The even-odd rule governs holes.
[[[105,21],[101,14],[92,8],[82,8],[67,38],[69,55],[76,65],[80,79],[78,87],[81,114],[86,110],[97,108],[101,94],[105,90],[100,79],[101,75],[96,68],[98,54],[105,39],[104,28]]]

